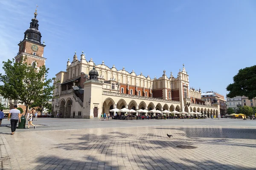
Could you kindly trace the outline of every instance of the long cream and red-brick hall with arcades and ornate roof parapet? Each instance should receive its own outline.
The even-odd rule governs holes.
[[[80,59],[79,59],[80,58]],[[52,113],[63,118],[99,118],[113,108],[155,109],[159,111],[200,112],[218,116],[218,103],[201,100],[201,90],[189,86],[189,75],[183,69],[174,77],[163,71],[162,77],[151,79],[143,73],[129,73],[123,67],[108,67],[104,61],[95,65],[93,59],[68,59],[66,71],[56,74]],[[149,113],[148,113],[149,114]],[[152,113],[154,114],[154,113]]]

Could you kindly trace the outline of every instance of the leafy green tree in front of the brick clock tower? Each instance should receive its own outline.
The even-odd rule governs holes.
[[[48,88],[53,79],[47,79],[49,68],[41,66],[40,68],[27,65],[22,59],[21,62],[15,62],[8,59],[3,62],[5,74],[0,74],[1,94],[8,99],[14,99],[26,105],[26,113],[29,105],[36,102],[38,96],[44,96],[44,89]]]

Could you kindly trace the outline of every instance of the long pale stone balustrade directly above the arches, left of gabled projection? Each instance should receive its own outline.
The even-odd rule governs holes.
[[[103,91],[102,94],[108,95],[108,96],[119,96],[119,97],[133,98],[133,99],[142,99],[142,100],[151,100],[151,101],[157,101],[157,102],[180,104],[180,101],[175,101],[175,100],[165,100],[165,99],[159,99],[159,98],[153,98],[153,97],[136,96],[136,95],[131,95],[131,94],[119,94],[119,93],[110,92],[110,91]]]

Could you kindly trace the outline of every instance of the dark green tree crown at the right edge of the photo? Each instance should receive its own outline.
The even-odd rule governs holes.
[[[233,84],[227,86],[227,97],[247,96],[249,99],[256,97],[256,65],[240,69],[233,77]]]

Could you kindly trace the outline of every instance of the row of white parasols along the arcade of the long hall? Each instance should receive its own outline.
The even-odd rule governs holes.
[[[114,108],[114,109],[111,109],[110,110],[111,112],[128,112],[128,113],[163,113],[163,114],[169,114],[169,113],[172,113],[172,114],[182,114],[182,115],[194,115],[194,114],[198,114],[198,115],[201,115],[202,113],[199,113],[199,112],[190,112],[190,113],[188,113],[188,112],[185,112],[185,111],[182,111],[182,112],[178,112],[178,111],[167,111],[167,110],[164,110],[164,111],[159,111],[159,110],[155,110],[155,109],[153,109],[153,110],[150,110],[150,111],[148,111],[148,110],[143,110],[143,109],[140,109],[140,110],[137,110],[137,111],[135,111],[135,110],[133,110],[133,109],[131,109],[131,110],[129,110],[129,109],[127,109],[127,108],[122,108],[122,109],[118,109],[118,108]]]

